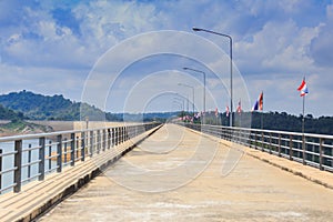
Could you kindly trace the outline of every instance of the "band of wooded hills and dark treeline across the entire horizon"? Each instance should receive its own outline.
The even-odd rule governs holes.
[[[160,121],[165,122],[176,117],[192,115],[192,113],[180,112],[159,112],[159,113],[110,113],[82,102],[72,102],[64,99],[63,95],[42,95],[29,91],[11,92],[0,95],[0,119],[11,120],[8,128],[16,128],[17,124],[23,128],[33,127],[23,123],[22,120],[84,120],[89,117],[90,121]],[[261,129],[261,119],[263,120],[263,129],[282,130],[282,131],[302,131],[302,115],[292,115],[286,112],[243,112],[241,115],[234,114],[234,125],[252,127]],[[251,122],[250,122],[251,120]],[[229,118],[225,113],[215,117],[215,112],[208,112],[205,115],[208,124],[229,125]],[[200,123],[200,119],[195,120]],[[36,125],[34,125],[36,127]],[[333,134],[333,117],[313,118],[311,114],[305,117],[305,132]]]

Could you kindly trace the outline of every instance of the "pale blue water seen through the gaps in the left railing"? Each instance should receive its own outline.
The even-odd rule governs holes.
[[[51,145],[50,148],[48,144],[50,144],[52,141],[51,140],[46,140],[46,157],[49,155],[49,152],[56,152],[57,148],[56,145]],[[37,148],[39,145],[39,140],[33,139],[33,140],[24,140],[22,141],[22,165],[29,162],[34,162],[39,160],[39,150],[31,150],[30,152],[27,151],[29,148]],[[0,143],[0,149],[2,150],[2,154],[10,153],[14,151],[14,141],[11,142],[1,142]],[[51,149],[51,150],[50,150]],[[30,158],[29,158],[30,157]],[[49,161],[46,160],[46,170],[50,168],[54,168],[57,164],[56,161]],[[14,157],[13,154],[2,157],[2,171],[13,169],[14,168]],[[30,178],[38,174],[38,163],[34,163],[30,167]],[[29,167],[22,168],[22,175],[21,179],[22,181],[28,179],[29,175]],[[37,179],[33,179],[37,180]],[[29,181],[27,181],[29,182]],[[26,182],[26,183],[27,183]],[[2,174],[2,181],[1,181],[1,189],[6,189],[10,185],[13,184],[13,171],[8,172]],[[11,191],[12,189],[6,190],[4,192]]]

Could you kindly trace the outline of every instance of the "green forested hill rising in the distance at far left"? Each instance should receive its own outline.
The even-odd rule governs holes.
[[[89,120],[119,120],[111,113],[82,102],[72,102],[62,94],[43,95],[30,91],[11,92],[0,95],[0,104],[23,113],[31,120],[68,120],[74,121],[89,117]]]

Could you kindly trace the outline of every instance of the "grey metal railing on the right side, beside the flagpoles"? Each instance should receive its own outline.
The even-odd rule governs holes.
[[[180,123],[224,140],[333,172],[333,135]]]

